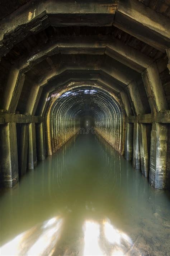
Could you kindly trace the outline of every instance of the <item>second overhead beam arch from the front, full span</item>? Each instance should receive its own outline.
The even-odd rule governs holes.
[[[15,66],[25,73],[44,59],[48,61],[50,56],[57,54],[106,54],[139,73],[153,62],[142,52],[110,36],[70,36],[66,39],[57,36],[52,44],[35,47],[29,56],[23,56]]]

